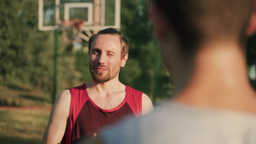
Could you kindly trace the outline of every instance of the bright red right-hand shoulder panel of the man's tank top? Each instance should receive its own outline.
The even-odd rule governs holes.
[[[142,113],[142,92],[137,91],[129,86],[126,88],[126,102],[131,107],[136,117]]]

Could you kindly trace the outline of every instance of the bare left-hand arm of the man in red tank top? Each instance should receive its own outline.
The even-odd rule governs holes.
[[[67,126],[70,101],[69,90],[62,91],[51,110],[49,122],[44,131],[43,144],[61,142]]]

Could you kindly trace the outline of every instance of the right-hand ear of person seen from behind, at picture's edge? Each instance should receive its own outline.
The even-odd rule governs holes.
[[[253,3],[253,13],[251,19],[249,21],[249,25],[246,29],[246,33],[248,36],[253,35],[256,32],[256,0]]]

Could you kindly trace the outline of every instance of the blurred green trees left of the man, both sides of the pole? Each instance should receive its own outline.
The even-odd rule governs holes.
[[[3,8],[0,10],[2,85],[25,84],[40,88],[49,96],[53,91],[53,32],[38,31],[38,2],[0,1],[0,5]],[[66,52],[65,47],[60,37],[59,55]],[[74,57],[61,56],[58,62],[58,88],[71,87],[78,79],[73,66]]]

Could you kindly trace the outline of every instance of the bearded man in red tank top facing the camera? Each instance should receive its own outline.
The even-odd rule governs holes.
[[[72,143],[94,137],[108,124],[153,109],[149,97],[124,85],[119,71],[128,58],[129,43],[114,28],[103,29],[89,39],[92,80],[61,92],[46,127],[43,143]]]

